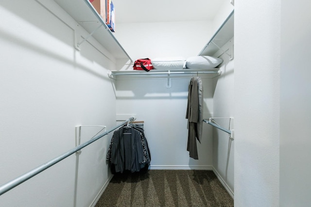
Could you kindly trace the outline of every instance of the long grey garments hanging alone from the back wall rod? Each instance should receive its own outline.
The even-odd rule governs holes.
[[[196,139],[201,143],[203,129],[203,84],[200,77],[190,80],[186,118],[188,119],[188,144],[190,158],[199,159]]]

